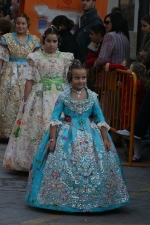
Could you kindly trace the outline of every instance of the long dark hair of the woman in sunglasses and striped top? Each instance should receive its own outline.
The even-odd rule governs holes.
[[[112,31],[115,31],[116,33],[122,32],[129,40],[129,31],[126,24],[125,19],[120,13],[110,13],[105,16],[104,23],[106,21],[106,18],[110,18],[112,23]]]

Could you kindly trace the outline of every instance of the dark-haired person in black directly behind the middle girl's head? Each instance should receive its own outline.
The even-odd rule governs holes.
[[[66,16],[60,15],[56,16],[52,20],[52,25],[54,25],[59,30],[61,37],[59,50],[61,52],[71,52],[76,54],[77,43],[73,34],[70,32],[74,26],[74,22],[68,19]]]

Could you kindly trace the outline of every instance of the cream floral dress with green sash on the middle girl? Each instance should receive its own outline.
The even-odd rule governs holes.
[[[57,58],[48,58],[40,51],[29,54],[27,59],[29,67],[24,78],[33,80],[34,85],[24,114],[20,107],[3,161],[6,168],[23,171],[29,170],[49,127],[54,104],[66,77],[66,67],[73,59],[73,54],[59,52]]]

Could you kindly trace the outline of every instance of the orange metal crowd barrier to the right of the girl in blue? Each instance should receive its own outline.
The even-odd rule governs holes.
[[[100,105],[106,122],[111,131],[125,129],[130,126],[129,161],[123,166],[150,167],[150,164],[133,163],[134,121],[136,106],[137,77],[135,73],[117,69],[106,72],[93,70],[93,79],[96,78],[95,92],[98,93]],[[122,86],[117,86],[121,81]]]

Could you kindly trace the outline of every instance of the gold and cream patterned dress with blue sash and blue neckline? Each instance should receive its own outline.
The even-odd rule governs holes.
[[[0,39],[0,59],[3,68],[0,78],[0,137],[9,137],[24,94],[27,56],[39,49],[38,37],[29,34],[24,43],[16,33],[8,33]]]

